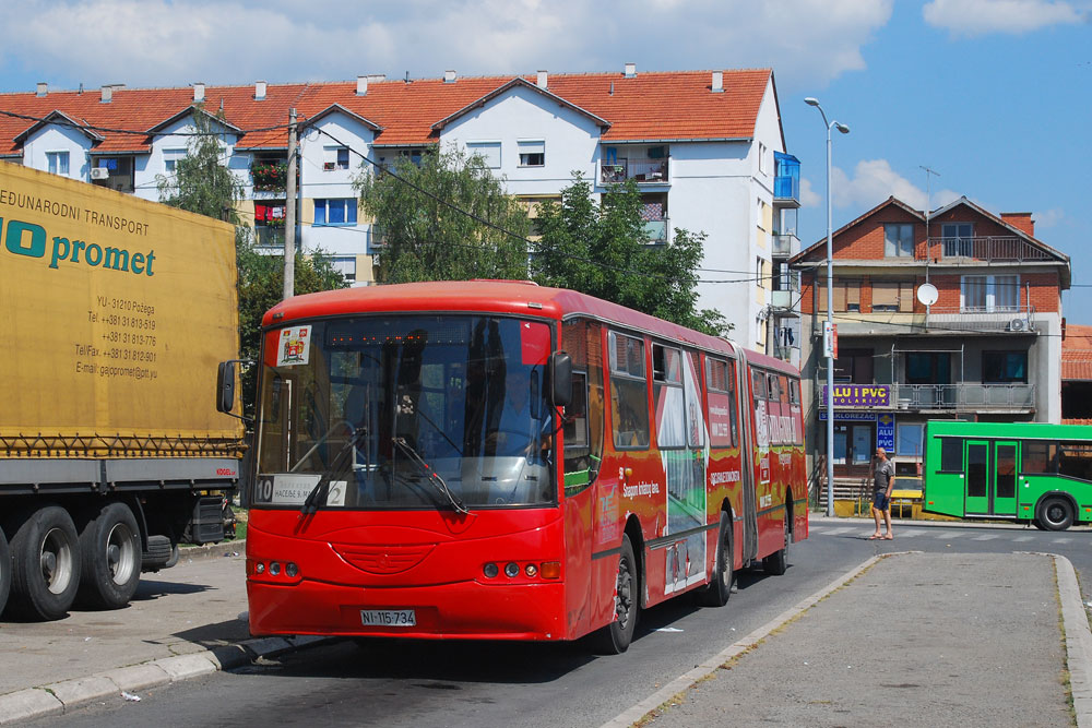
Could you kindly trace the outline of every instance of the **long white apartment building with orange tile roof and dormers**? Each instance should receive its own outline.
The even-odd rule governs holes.
[[[639,73],[627,63],[617,73],[447,71],[96,92],[43,83],[0,94],[0,140],[10,140],[0,142],[0,159],[156,200],[156,180],[186,154],[194,108],[219,131],[224,164],[245,187],[244,218],[271,251],[284,240],[287,123],[296,110],[298,239],[305,251],[332,254],[357,285],[373,281],[381,250],[353,188],[361,165],[454,145],[480,154],[532,207],[556,198],[574,171],[596,195],[632,179],[649,244],[678,228],[708,235],[701,277],[717,283],[700,285],[699,306],[722,311],[741,343],[798,360],[794,297],[784,293],[793,282],[782,264],[799,249],[799,164],[785,150],[769,69]],[[794,324],[795,337],[784,332]]]

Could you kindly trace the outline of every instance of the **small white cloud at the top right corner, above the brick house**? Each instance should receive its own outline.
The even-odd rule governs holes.
[[[1087,10],[1061,0],[933,0],[922,15],[929,25],[965,36],[1030,33],[1088,19]]]

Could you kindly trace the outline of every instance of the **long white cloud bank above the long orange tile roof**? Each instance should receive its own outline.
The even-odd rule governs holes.
[[[862,70],[893,0],[25,0],[5,64],[51,85],[272,83],[771,67],[785,88]],[[58,77],[62,76],[62,77]]]

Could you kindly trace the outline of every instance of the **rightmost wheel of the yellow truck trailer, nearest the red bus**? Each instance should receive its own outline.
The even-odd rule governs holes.
[[[120,502],[93,508],[80,532],[81,604],[120,609],[129,604],[140,583],[140,529],[132,510]]]

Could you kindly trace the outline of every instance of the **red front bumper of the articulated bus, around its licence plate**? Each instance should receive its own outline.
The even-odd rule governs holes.
[[[500,576],[503,578],[503,576]],[[417,587],[361,587],[301,581],[295,585],[247,581],[250,632],[337,634],[432,640],[565,637],[565,588],[542,584],[464,582]],[[413,609],[414,626],[365,625],[363,610]]]

